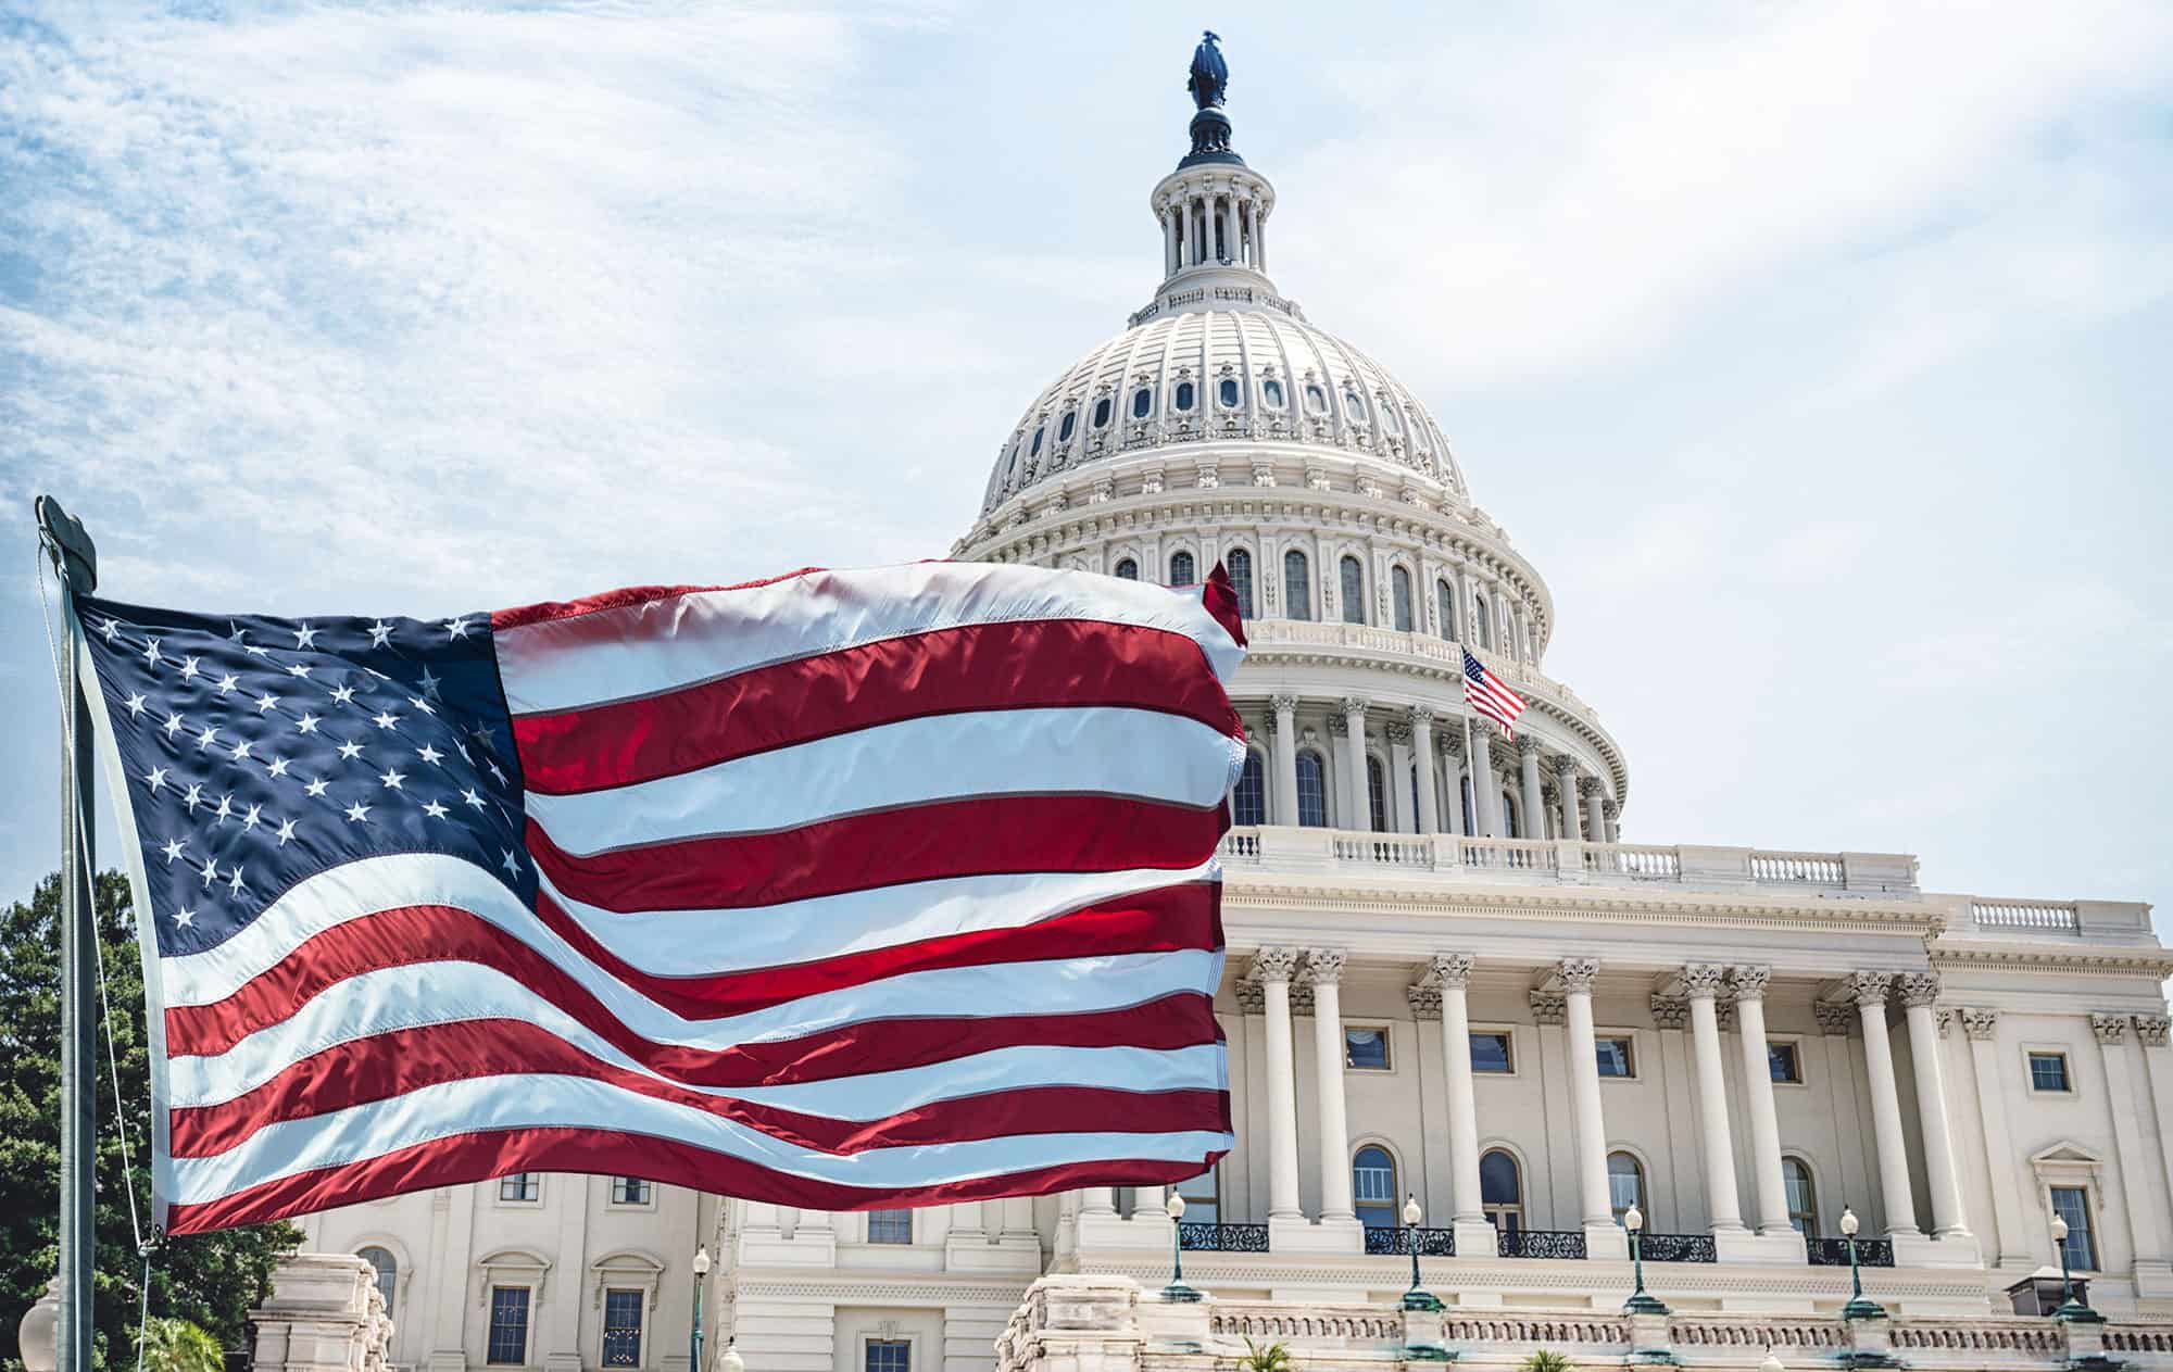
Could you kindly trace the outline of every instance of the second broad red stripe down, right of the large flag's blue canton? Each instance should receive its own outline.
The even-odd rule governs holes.
[[[1226,805],[1113,795],[1008,795],[847,814],[776,834],[726,834],[576,858],[528,821],[556,890],[604,910],[776,905],[871,886],[1017,873],[1189,868],[1215,855]]]

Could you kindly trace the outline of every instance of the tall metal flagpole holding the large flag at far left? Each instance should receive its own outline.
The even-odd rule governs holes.
[[[98,588],[98,549],[83,521],[37,497],[37,536],[61,575],[61,1311],[59,1372],[91,1370],[93,1164],[91,1081],[98,925],[91,912],[91,708],[78,677],[83,625],[72,597]]]

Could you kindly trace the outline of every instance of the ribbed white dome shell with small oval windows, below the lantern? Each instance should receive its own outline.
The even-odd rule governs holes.
[[[984,512],[1052,473],[1199,439],[1371,454],[1469,499],[1441,425],[1380,363],[1306,323],[1267,278],[1215,276],[1228,284],[1167,282],[1028,406],[995,456]]]

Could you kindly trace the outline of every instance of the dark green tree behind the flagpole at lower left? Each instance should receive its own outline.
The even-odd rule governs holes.
[[[20,1372],[15,1326],[59,1263],[61,1209],[61,879],[0,914],[0,1372]],[[98,877],[98,944],[111,994],[122,1116],[135,1161],[135,1203],[150,1224],[150,1059],[143,962],[120,873]],[[143,1259],[128,1227],[128,1181],[115,1129],[106,1027],[98,1031],[98,1344],[100,1365],[133,1365]],[[150,1313],[200,1326],[239,1348],[248,1309],[293,1250],[293,1224],[256,1224],[167,1240],[150,1266]]]

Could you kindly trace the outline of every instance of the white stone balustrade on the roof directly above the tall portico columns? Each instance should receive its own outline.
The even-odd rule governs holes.
[[[1565,886],[1767,888],[1814,894],[1917,894],[1908,853],[1784,853],[1767,849],[1578,842],[1562,838],[1465,838],[1260,825],[1230,829],[1232,866],[1267,871],[1376,871],[1473,881]]]

